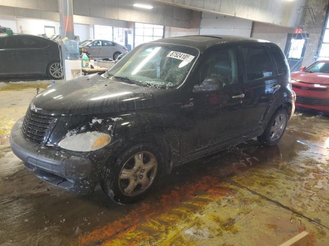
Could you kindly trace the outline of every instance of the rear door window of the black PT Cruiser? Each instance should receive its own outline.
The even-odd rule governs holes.
[[[265,46],[243,47],[247,80],[266,78],[274,75],[270,54]]]

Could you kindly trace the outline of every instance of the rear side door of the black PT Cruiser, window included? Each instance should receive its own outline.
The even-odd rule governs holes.
[[[280,75],[266,44],[241,47],[244,58],[244,134],[261,131],[273,94],[280,90]]]

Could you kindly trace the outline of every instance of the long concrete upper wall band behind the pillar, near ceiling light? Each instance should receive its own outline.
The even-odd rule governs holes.
[[[147,3],[148,1],[143,1]],[[180,28],[197,28],[201,12],[152,2],[152,11],[133,7],[133,0],[73,0],[75,15],[103,19],[125,20]],[[34,17],[58,16],[58,1],[0,1],[0,14]],[[4,13],[5,12],[5,13]],[[11,14],[10,14],[11,13]],[[22,16],[22,17],[23,17]],[[57,17],[58,18],[58,17]],[[195,25],[196,24],[196,25]],[[101,24],[97,24],[101,25]]]

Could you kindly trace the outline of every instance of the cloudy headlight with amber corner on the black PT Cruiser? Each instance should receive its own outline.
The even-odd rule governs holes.
[[[111,136],[102,132],[85,132],[63,138],[58,146],[73,151],[95,151],[108,145]]]

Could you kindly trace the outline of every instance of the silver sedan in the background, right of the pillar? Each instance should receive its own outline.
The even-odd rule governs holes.
[[[119,45],[113,41],[103,39],[87,39],[80,44],[90,58],[112,58],[116,59],[118,55],[127,53],[127,47]]]

